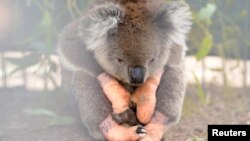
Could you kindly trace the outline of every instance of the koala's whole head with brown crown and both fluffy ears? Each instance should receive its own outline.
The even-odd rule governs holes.
[[[79,35],[107,73],[140,85],[164,67],[172,44],[185,44],[190,25],[183,3],[105,3],[81,20]]]

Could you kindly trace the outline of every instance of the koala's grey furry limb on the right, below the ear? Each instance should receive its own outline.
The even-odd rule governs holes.
[[[177,123],[181,116],[186,89],[184,52],[185,47],[173,46],[156,94],[156,110],[168,118],[167,125]]]

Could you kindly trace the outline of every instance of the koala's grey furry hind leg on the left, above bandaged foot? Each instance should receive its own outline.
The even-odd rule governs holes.
[[[110,102],[95,77],[84,71],[77,71],[72,75],[72,92],[77,99],[83,125],[94,140],[105,140],[99,125],[112,111]]]

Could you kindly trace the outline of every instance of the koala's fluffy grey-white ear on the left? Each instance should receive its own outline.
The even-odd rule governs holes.
[[[124,10],[116,4],[106,3],[94,7],[81,19],[79,35],[88,50],[105,45],[124,17]]]

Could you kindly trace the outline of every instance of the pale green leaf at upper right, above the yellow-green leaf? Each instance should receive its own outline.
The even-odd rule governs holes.
[[[203,7],[199,14],[198,19],[201,21],[210,21],[213,14],[215,13],[216,5],[208,3],[206,7]]]

